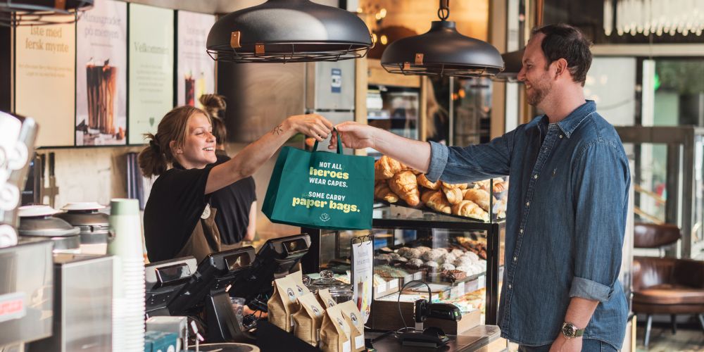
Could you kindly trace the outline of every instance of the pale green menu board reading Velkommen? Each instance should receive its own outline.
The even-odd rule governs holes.
[[[130,144],[144,144],[173,108],[173,43],[173,10],[130,4]]]

